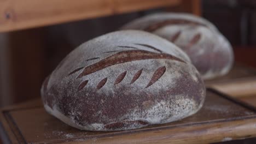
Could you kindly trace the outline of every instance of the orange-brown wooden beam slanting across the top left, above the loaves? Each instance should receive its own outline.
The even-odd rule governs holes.
[[[177,6],[184,2],[184,0],[4,0],[0,1],[0,32]],[[200,1],[196,2],[200,3]]]

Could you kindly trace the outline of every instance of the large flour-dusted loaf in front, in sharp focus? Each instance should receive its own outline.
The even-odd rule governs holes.
[[[111,131],[193,115],[205,86],[177,46],[147,32],[118,31],[69,53],[41,95],[45,110],[72,127]]]

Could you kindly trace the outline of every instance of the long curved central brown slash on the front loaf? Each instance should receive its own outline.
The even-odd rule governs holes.
[[[172,59],[174,61],[185,63],[182,59],[174,57],[167,53],[155,53],[144,50],[121,51],[115,53],[112,56],[104,58],[97,63],[85,67],[82,73],[78,75],[77,79],[115,64],[138,61],[143,59]]]

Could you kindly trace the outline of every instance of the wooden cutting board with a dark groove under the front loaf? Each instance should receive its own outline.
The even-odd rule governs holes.
[[[256,136],[256,109],[213,89],[195,115],[136,130],[78,130],[46,113],[40,99],[5,108],[0,120],[9,143],[210,143]]]

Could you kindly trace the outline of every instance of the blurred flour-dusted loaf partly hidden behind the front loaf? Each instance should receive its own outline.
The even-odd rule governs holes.
[[[225,75],[234,61],[232,47],[218,29],[190,14],[152,14],[121,29],[139,29],[159,35],[184,50],[203,79]]]

